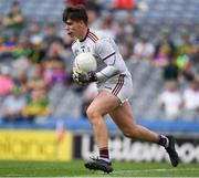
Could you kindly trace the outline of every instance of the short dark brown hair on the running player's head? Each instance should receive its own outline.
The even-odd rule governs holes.
[[[62,14],[62,20],[65,23],[69,19],[72,21],[83,21],[85,24],[87,24],[87,13],[85,10],[85,7],[80,4],[75,7],[66,7]]]

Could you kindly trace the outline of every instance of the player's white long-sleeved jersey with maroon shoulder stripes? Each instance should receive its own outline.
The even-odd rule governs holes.
[[[91,52],[95,56],[98,83],[115,83],[121,74],[130,76],[114,40],[102,32],[88,29],[84,40],[73,42],[72,51],[75,56],[83,52]]]

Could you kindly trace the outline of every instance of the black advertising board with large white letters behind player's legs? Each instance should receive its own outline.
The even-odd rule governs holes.
[[[76,135],[73,138],[73,157],[90,159],[97,154],[94,138],[90,134]],[[177,150],[182,163],[199,163],[199,138],[178,137]],[[133,140],[119,135],[109,138],[111,157],[124,161],[168,161],[165,148],[157,144]]]

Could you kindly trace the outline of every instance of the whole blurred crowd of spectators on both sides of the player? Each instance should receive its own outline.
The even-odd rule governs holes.
[[[114,12],[98,18],[101,11],[90,8],[91,27],[109,33],[125,60],[146,61],[163,69],[166,88],[158,102],[164,112],[176,118],[182,108],[199,111],[199,34],[184,32],[172,39],[167,31],[150,41],[139,33],[132,13],[116,19]],[[72,81],[72,39],[61,23],[61,19],[59,25],[29,20],[19,2],[0,18],[0,116],[4,121],[45,121],[53,113],[49,91],[54,86],[84,91]],[[182,93],[178,90],[181,85],[186,85]],[[91,88],[83,114],[96,94],[95,87]]]

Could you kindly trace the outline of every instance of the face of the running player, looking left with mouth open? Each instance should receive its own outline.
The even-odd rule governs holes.
[[[65,22],[65,30],[67,31],[67,34],[71,36],[75,36],[77,39],[81,39],[82,35],[82,22],[81,21],[72,21],[72,20],[67,20]]]

